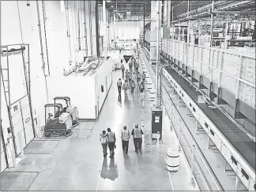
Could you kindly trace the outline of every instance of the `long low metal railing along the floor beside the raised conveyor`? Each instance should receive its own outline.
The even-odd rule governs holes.
[[[141,51],[141,57],[145,61],[145,66],[148,68],[154,83],[156,70],[149,65],[149,56],[143,50]],[[171,97],[171,94],[174,94],[174,89],[171,89],[171,83],[165,77],[162,79],[162,103],[171,120],[171,127],[175,129],[175,133],[179,137],[180,145],[183,147],[183,152],[200,190],[223,190],[205,157],[202,155],[197,142],[194,140],[190,128],[187,127],[183,120],[182,114],[179,113],[177,106],[172,101],[173,97]],[[191,177],[191,184],[194,185],[193,177]]]

